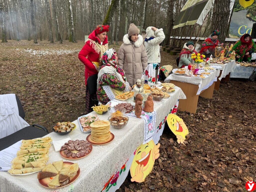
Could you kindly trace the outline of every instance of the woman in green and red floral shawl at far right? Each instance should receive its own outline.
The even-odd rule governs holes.
[[[252,53],[254,53],[256,47],[253,39],[251,36],[247,33],[244,34],[240,40],[238,40],[233,48],[232,51],[236,52],[236,61],[242,62],[242,61],[251,61]]]

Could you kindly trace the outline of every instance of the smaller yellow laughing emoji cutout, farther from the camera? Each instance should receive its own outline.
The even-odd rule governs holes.
[[[188,128],[181,118],[175,114],[169,114],[167,116],[167,124],[170,130],[176,135],[178,144],[185,144],[186,135],[188,134]]]

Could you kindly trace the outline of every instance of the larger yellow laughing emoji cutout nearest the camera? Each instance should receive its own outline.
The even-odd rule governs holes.
[[[130,167],[132,182],[141,183],[150,174],[155,160],[160,156],[159,147],[160,143],[155,145],[153,140],[137,147]]]

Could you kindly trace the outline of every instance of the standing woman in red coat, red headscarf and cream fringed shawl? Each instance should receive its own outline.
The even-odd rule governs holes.
[[[87,79],[89,76],[98,74],[99,64],[103,53],[108,49],[108,25],[98,25],[89,35],[85,45],[78,54],[78,58],[85,66],[84,77],[86,85],[86,113],[92,111],[92,100],[97,100],[96,94],[90,95],[87,88]]]

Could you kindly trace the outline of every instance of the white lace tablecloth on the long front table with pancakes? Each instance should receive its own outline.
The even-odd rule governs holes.
[[[156,126],[170,112],[178,99],[186,99],[183,91],[176,87],[175,92],[170,93],[170,97],[162,101],[154,101],[154,110],[156,111]],[[163,107],[164,106],[164,107]],[[95,112],[92,112],[95,114]],[[99,115],[101,120],[108,120],[108,113]],[[46,136],[50,136],[52,140],[61,140],[70,137],[72,140],[86,140],[88,133],[82,133],[78,120],[73,121],[77,127],[68,135],[57,135],[52,132]],[[37,179],[37,174],[13,176],[8,172],[0,172],[0,191],[1,192],[53,192],[53,191],[86,191],[99,192],[104,184],[109,180],[110,176],[120,169],[127,159],[133,154],[134,150],[140,146],[144,137],[144,121],[136,118],[129,118],[126,127],[120,130],[110,128],[115,138],[111,143],[105,145],[93,145],[92,152],[85,158],[71,161],[62,158],[59,152],[55,152],[51,146],[49,150],[48,163],[54,161],[71,161],[78,163],[80,167],[80,176],[71,185],[59,189],[48,189],[42,187]]]

